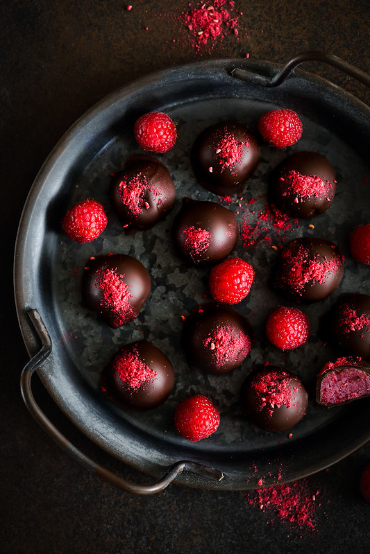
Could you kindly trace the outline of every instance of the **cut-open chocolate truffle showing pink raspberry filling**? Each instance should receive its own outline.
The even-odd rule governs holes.
[[[361,358],[328,362],[317,376],[316,399],[323,406],[339,406],[370,396],[370,364]]]

